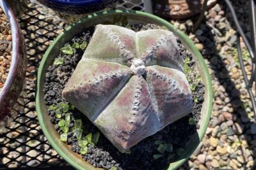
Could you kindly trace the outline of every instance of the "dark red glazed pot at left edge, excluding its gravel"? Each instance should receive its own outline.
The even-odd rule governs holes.
[[[15,118],[18,113],[12,108],[17,102],[26,78],[27,57],[25,39],[20,31],[17,18],[4,0],[0,1],[0,6],[8,18],[12,30],[12,62],[8,77],[0,92],[0,125],[4,125],[4,123],[10,122],[11,118]]]

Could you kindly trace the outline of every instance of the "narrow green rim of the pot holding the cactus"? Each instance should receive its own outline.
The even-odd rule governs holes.
[[[102,12],[97,12],[97,13],[93,13],[92,15],[88,15],[87,17],[78,20],[77,22],[75,22],[74,24],[69,25],[65,31],[61,32],[60,35],[57,36],[57,38],[51,43],[51,45],[49,46],[49,48],[47,49],[47,51],[45,52],[45,55],[41,61],[40,67],[38,69],[38,75],[37,75],[37,80],[36,80],[36,111],[38,113],[38,120],[40,122],[40,125],[42,127],[42,131],[45,134],[45,137],[48,139],[49,143],[51,143],[52,147],[61,155],[61,157],[63,157],[63,159],[65,159],[70,165],[72,165],[73,167],[75,167],[76,169],[84,169],[84,167],[80,166],[79,164],[77,164],[77,162],[74,162],[73,160],[71,160],[66,154],[65,152],[63,152],[63,150],[61,150],[60,146],[58,146],[59,143],[56,143],[52,137],[51,134],[49,134],[47,127],[45,127],[44,124],[44,118],[42,117],[42,104],[40,104],[40,89],[42,89],[42,85],[40,85],[40,81],[42,79],[41,73],[43,71],[43,68],[45,66],[46,60],[49,56],[49,52],[51,52],[52,48],[54,48],[54,46],[58,45],[58,41],[65,36],[65,32],[68,32],[68,30],[70,30],[72,27],[74,27],[74,25],[79,24],[79,22],[82,22],[84,20],[93,20],[93,18],[97,18],[99,16],[104,16],[104,15],[108,15],[108,14],[129,14],[129,15],[139,15],[141,17],[147,17],[150,18],[151,20],[157,20],[157,22],[172,28],[173,30],[175,30],[177,32],[177,34],[179,34],[179,36],[183,39],[185,39],[188,43],[189,46],[191,46],[191,50],[193,50],[193,52],[196,54],[196,57],[198,58],[200,64],[202,65],[203,69],[204,69],[204,74],[205,74],[205,84],[207,84],[205,86],[205,91],[207,91],[208,95],[207,97],[205,97],[205,101],[207,100],[207,103],[209,104],[207,106],[207,109],[205,111],[205,121],[204,121],[204,125],[202,125],[200,127],[200,129],[202,128],[201,133],[198,133],[198,138],[199,141],[202,140],[202,138],[204,137],[205,131],[208,127],[209,124],[209,120],[211,117],[211,111],[212,111],[212,85],[211,85],[211,76],[209,74],[209,71],[207,69],[207,65],[204,62],[204,59],[201,55],[201,53],[197,50],[196,46],[194,45],[194,43],[191,41],[191,39],[188,38],[188,36],[186,36],[183,32],[177,30],[172,24],[170,24],[170,22],[167,22],[166,20],[164,20],[163,18],[159,18],[155,15],[152,15],[150,13],[145,13],[142,11],[132,11],[132,10],[111,10],[111,11],[102,11]],[[172,162],[169,167],[167,167],[167,169],[177,169],[178,167],[180,167],[187,159],[189,159],[189,157],[193,154],[193,152],[195,151],[195,149],[197,148],[199,143],[195,143],[195,145],[191,146],[191,148],[189,148],[189,150],[187,150],[186,155],[184,155],[182,157],[182,159],[177,160],[176,162]]]

